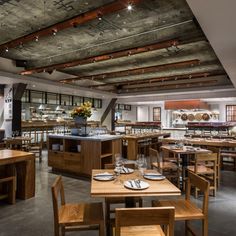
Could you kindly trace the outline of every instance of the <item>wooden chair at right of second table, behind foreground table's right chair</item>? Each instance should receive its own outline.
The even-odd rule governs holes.
[[[210,190],[213,190],[213,196],[216,196],[217,190],[217,153],[197,154],[195,164],[188,166],[187,170],[204,177],[210,182]],[[195,197],[198,195],[198,189],[195,189]]]

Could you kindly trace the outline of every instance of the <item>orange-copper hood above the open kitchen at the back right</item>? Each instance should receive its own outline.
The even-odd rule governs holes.
[[[201,100],[184,100],[184,101],[166,101],[165,110],[180,109],[209,109],[209,105]]]

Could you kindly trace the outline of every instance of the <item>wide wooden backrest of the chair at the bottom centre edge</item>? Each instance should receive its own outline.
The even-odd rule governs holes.
[[[165,235],[173,236],[174,214],[174,207],[117,208],[115,235],[121,235],[121,227],[162,225]]]

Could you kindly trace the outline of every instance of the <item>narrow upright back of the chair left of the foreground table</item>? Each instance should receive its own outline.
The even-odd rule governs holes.
[[[65,193],[64,186],[62,183],[62,177],[58,176],[52,185],[52,203],[54,213],[54,227],[59,226],[59,208],[65,205]],[[60,205],[59,205],[60,203]]]

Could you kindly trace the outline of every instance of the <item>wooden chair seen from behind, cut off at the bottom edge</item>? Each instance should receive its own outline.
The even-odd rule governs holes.
[[[117,208],[115,235],[173,236],[174,212],[174,207]]]

